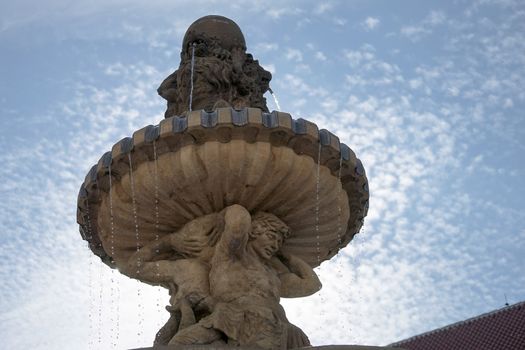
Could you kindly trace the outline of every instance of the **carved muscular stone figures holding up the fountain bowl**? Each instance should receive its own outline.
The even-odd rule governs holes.
[[[172,294],[171,317],[156,343],[310,345],[279,299],[311,295],[321,284],[307,263],[280,251],[288,234],[276,216],[232,205],[137,251],[129,268]],[[170,259],[156,260],[170,250]]]

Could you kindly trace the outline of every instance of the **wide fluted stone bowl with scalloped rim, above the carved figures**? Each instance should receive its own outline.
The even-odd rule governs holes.
[[[354,152],[287,113],[220,108],[164,119],[125,138],[87,174],[77,221],[90,249],[124,267],[137,247],[240,204],[292,233],[283,250],[318,266],[359,232],[368,182]]]

